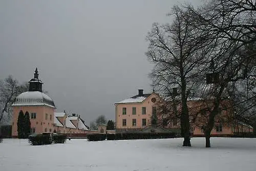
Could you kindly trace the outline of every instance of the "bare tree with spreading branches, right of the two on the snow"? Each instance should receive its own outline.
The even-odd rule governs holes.
[[[186,8],[193,14],[190,25],[210,32],[212,41],[216,42],[215,48],[207,54],[208,70],[204,73],[212,81],[202,82],[198,91],[204,100],[200,108],[207,118],[203,128],[206,147],[210,147],[210,132],[218,120],[216,116],[223,109],[223,101],[229,99],[230,108],[248,100],[255,101],[255,84],[252,81],[255,79],[255,2],[211,1],[197,10],[190,5]],[[243,86],[245,80],[246,87]],[[247,89],[247,95],[239,98],[239,91],[240,95],[245,93],[243,88]],[[249,109],[254,106],[249,106]]]

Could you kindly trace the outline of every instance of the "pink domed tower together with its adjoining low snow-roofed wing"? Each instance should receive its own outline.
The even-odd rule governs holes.
[[[34,78],[29,81],[29,91],[17,96],[12,104],[12,137],[17,137],[17,120],[20,111],[30,115],[31,133],[40,134],[42,132],[59,133],[84,133],[88,127],[80,116],[72,117],[66,115],[59,116],[55,113],[54,101],[46,94],[42,93],[43,82],[38,78],[37,68]],[[57,115],[57,116],[56,116]]]

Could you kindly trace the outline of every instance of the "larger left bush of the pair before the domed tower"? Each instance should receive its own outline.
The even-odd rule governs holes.
[[[30,135],[28,139],[32,145],[44,145],[52,143],[52,138],[50,135]]]

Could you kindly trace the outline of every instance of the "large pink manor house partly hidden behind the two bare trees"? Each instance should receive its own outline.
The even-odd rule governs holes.
[[[152,93],[143,94],[143,90],[138,90],[138,94],[131,98],[124,99],[115,103],[116,106],[116,132],[176,132],[180,133],[180,124],[178,118],[174,118],[171,123],[166,126],[160,124],[152,124],[152,117],[156,116],[160,121],[158,114],[159,103],[162,99],[154,91]],[[200,100],[191,99],[188,101],[189,106],[200,106]],[[200,109],[199,109],[200,110]],[[225,115],[231,115],[232,111],[224,111]],[[231,136],[234,133],[251,133],[252,126],[234,121],[232,123],[216,122],[214,129],[211,131],[212,136]],[[200,124],[191,124],[191,132],[193,136],[203,136],[203,130]]]

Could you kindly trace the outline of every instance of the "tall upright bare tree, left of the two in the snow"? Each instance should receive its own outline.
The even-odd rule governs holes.
[[[191,146],[187,98],[190,91],[196,89],[199,73],[206,66],[204,59],[208,50],[204,47],[209,46],[209,39],[206,32],[189,25],[189,11],[174,6],[169,15],[175,17],[172,24],[153,24],[147,35],[146,55],[155,63],[151,77],[156,91],[172,104],[170,108],[180,106],[183,146]],[[173,88],[179,90],[178,97],[174,96]],[[178,110],[174,111],[177,115]]]

